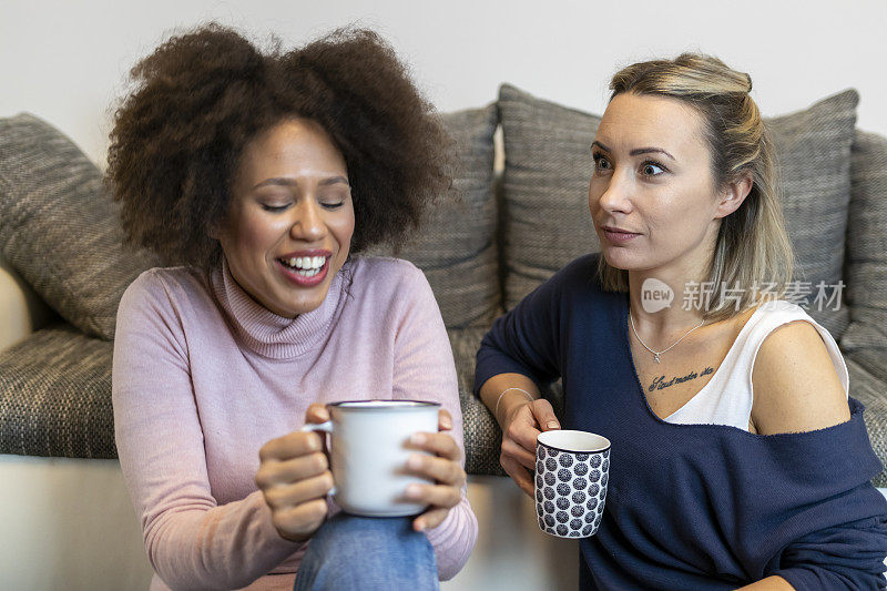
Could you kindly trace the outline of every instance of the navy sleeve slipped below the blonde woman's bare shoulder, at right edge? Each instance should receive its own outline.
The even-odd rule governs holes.
[[[745,514],[758,517],[748,544],[768,556],[764,577],[778,574],[798,591],[887,588],[887,501],[870,482],[883,467],[865,407],[848,401],[849,421],[752,438],[762,473],[756,490],[742,493]]]

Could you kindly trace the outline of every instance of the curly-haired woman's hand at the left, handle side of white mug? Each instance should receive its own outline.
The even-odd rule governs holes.
[[[313,404],[305,412],[306,424],[327,420],[329,411],[324,405]],[[282,538],[307,540],[326,519],[326,495],[333,488],[320,436],[290,432],[262,446],[258,457],[256,486],[271,508],[274,527]]]

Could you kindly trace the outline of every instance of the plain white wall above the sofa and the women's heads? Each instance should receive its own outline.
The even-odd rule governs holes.
[[[0,116],[31,111],[103,163],[128,69],[175,28],[216,19],[299,44],[359,21],[380,30],[441,110],[492,101],[508,81],[601,112],[620,67],[702,50],[752,74],[768,115],[859,90],[858,124],[887,134],[887,2],[0,1]]]

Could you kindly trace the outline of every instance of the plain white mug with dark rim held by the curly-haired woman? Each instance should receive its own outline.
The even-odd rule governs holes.
[[[407,447],[418,431],[438,431],[438,403],[417,400],[354,400],[327,405],[330,420],[306,425],[303,431],[329,434],[330,493],[343,510],[368,517],[400,517],[422,512],[426,505],[408,501],[406,489],[429,480],[407,471]]]

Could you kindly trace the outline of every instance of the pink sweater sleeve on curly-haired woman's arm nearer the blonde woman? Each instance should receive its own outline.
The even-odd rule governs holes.
[[[409,265],[399,289],[405,305],[400,308],[394,359],[392,398],[440,403],[452,416],[452,438],[459,446],[465,466],[462,411],[456,364],[447,329],[431,287],[421,271]],[[462,487],[462,499],[443,522],[426,532],[435,549],[438,577],[446,581],[458,573],[478,537],[478,522]]]

